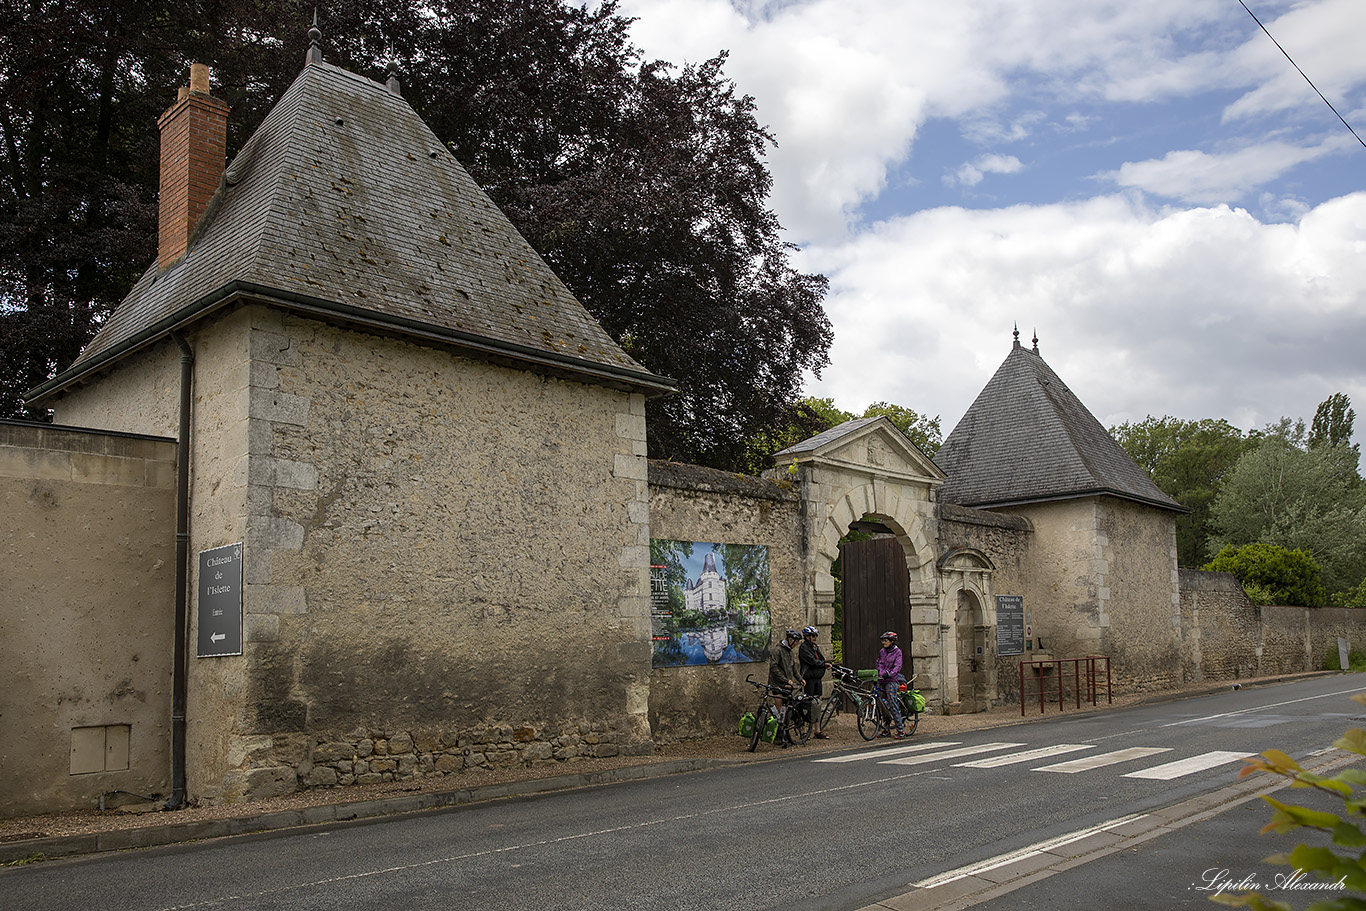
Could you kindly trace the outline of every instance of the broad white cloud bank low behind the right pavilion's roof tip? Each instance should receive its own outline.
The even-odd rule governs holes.
[[[941,414],[947,433],[1018,322],[1106,425],[1309,418],[1333,392],[1366,402],[1363,254],[1366,193],[1298,224],[1132,195],[918,212],[805,251],[831,276],[835,324],[810,389],[847,410],[885,399]]]

